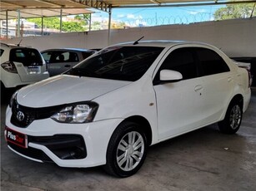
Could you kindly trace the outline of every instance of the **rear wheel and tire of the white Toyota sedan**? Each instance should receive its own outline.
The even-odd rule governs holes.
[[[218,129],[224,134],[235,134],[243,118],[242,100],[233,100],[228,105],[224,120],[218,122]]]

